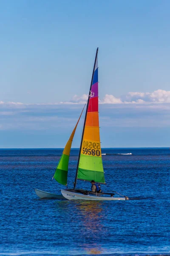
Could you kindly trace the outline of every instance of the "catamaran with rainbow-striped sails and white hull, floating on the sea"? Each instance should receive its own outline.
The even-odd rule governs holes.
[[[77,171],[73,189],[61,189],[62,196],[68,200],[128,200],[127,196],[118,192],[91,192],[84,189],[76,189],[77,180],[90,181],[106,184],[102,164],[102,152],[99,134],[99,102],[98,102],[98,48],[94,61],[94,69],[91,78],[91,86],[88,94],[85,120],[82,131],[82,139],[79,149]],[[85,107],[84,107],[85,108]],[[81,113],[82,115],[82,113]],[[80,117],[81,117],[80,115]],[[79,119],[80,119],[79,117]],[[78,119],[78,122],[79,122]],[[59,160],[54,179],[62,185],[67,184],[68,161],[71,143],[74,138],[78,122],[69,138],[62,156]],[[118,196],[115,197],[115,194]]]

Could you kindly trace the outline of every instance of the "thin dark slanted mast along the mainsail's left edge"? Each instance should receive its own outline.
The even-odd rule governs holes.
[[[92,77],[91,77],[91,86],[92,86],[93,78],[94,78],[94,71],[95,71],[95,66],[96,66],[97,54],[98,54],[98,47],[97,47],[97,50],[96,50],[96,57],[95,57],[95,61],[94,61],[93,74],[92,74]],[[75,181],[74,181],[74,189],[75,189],[76,184],[77,184],[77,175],[78,175],[78,169],[79,169],[79,160],[80,160],[80,154],[81,154],[83,136],[84,136],[84,132],[85,132],[85,122],[86,122],[87,113],[88,113],[88,105],[89,105],[89,100],[90,100],[90,95],[91,95],[91,86],[90,86],[90,90],[89,90],[89,94],[88,94],[88,103],[87,103],[87,107],[86,107],[85,121],[84,121],[84,125],[83,125],[83,130],[82,130],[82,139],[81,139],[80,148],[79,148],[79,158],[78,158],[78,163],[77,163],[76,177],[75,177]]]

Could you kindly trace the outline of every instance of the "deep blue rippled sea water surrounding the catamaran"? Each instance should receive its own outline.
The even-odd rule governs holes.
[[[170,254],[169,148],[102,149],[108,183],[102,190],[116,190],[129,201],[39,199],[34,188],[64,188],[52,180],[61,154],[0,150],[0,255]],[[77,159],[78,149],[72,149],[69,188]]]

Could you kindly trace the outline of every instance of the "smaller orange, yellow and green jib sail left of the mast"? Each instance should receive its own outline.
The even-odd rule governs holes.
[[[84,108],[85,108],[85,106],[84,106]],[[84,110],[84,108],[83,108],[83,110]],[[83,110],[82,110],[82,112],[83,112]],[[82,113],[80,114],[79,119],[81,116],[82,116]],[[71,144],[72,144],[72,141],[74,138],[74,134],[75,134],[79,119],[77,121],[76,126],[74,127],[74,130],[71,133],[71,136],[70,136],[67,144],[65,145],[65,148],[64,148],[62,155],[59,159],[59,163],[57,165],[56,171],[54,173],[54,179],[57,180],[58,183],[60,183],[62,185],[67,185],[68,161],[69,161],[69,156],[70,156]]]

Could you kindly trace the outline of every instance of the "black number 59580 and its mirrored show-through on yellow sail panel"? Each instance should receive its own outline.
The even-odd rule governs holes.
[[[82,144],[82,154],[99,157],[101,155],[100,143],[84,140]]]

